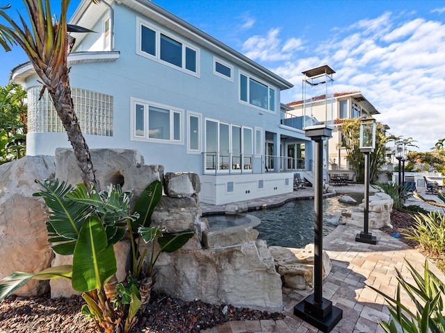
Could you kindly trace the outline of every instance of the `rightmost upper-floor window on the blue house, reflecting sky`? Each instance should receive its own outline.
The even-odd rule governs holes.
[[[240,100],[264,110],[275,111],[275,89],[240,74]]]

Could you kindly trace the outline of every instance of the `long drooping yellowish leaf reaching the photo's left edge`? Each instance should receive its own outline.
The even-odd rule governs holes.
[[[0,282],[0,302],[23,287],[29,280],[51,280],[57,278],[71,278],[72,266],[56,266],[44,269],[40,273],[14,272]]]

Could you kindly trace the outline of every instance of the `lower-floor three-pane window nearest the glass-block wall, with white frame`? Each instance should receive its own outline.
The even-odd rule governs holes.
[[[136,141],[155,141],[181,144],[183,111],[132,99],[131,137]]]

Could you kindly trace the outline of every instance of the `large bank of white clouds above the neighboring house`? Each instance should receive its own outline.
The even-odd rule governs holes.
[[[305,41],[294,56],[298,60],[273,69],[295,86],[282,93],[282,102],[301,99],[301,71],[327,64],[337,71],[336,92],[361,90],[389,133],[412,137],[420,151],[429,151],[445,137],[445,24],[403,15],[385,12],[334,29],[323,42]]]

